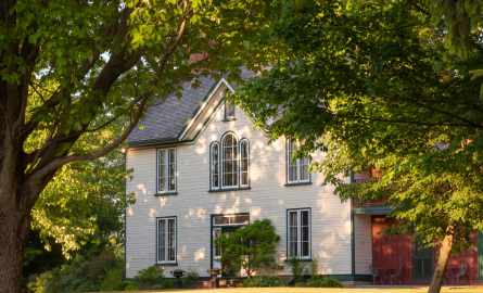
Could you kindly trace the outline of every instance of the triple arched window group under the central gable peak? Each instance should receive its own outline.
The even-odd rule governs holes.
[[[221,143],[213,142],[209,150],[209,188],[250,188],[250,143],[238,140],[233,133],[223,137]]]

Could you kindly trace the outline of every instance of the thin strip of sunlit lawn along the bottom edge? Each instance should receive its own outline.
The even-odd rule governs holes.
[[[325,288],[231,288],[231,289],[191,289],[191,290],[142,290],[130,292],[155,293],[175,291],[179,293],[427,293],[425,289],[325,289]],[[122,292],[122,291],[116,291]],[[126,291],[123,291],[126,292]],[[483,293],[483,288],[443,289],[447,293]],[[111,292],[111,293],[114,293]]]

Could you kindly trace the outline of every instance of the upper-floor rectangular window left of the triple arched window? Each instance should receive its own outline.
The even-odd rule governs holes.
[[[157,193],[176,191],[176,149],[157,150]]]

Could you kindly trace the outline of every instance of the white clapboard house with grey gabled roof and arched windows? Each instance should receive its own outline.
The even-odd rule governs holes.
[[[357,224],[369,232],[355,233],[351,203],[341,203],[333,187],[321,187],[320,174],[307,174],[308,160],[292,164],[297,145],[285,139],[267,144],[241,109],[227,105],[227,90],[233,89],[225,78],[202,78],[196,90],[187,85],[181,99],[151,106],[142,130],[129,136],[126,167],[134,168],[134,180],[126,192],[137,202],[126,211],[126,278],[157,265],[192,267],[207,280],[206,270],[220,266],[213,240],[269,218],[282,239],[280,265],[290,255],[307,262],[318,255],[320,275],[367,280],[370,217]],[[323,160],[322,153],[313,156]],[[355,241],[369,250],[358,253]],[[287,265],[269,273],[291,275]]]

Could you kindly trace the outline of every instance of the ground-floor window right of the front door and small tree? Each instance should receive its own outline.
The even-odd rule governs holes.
[[[288,211],[288,255],[310,258],[310,209]]]

